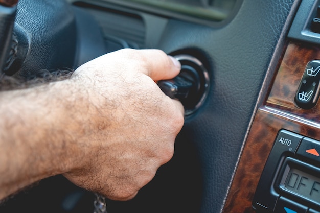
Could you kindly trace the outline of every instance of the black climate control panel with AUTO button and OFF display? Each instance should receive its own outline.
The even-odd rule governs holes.
[[[320,212],[320,141],[280,130],[253,200],[257,212]]]

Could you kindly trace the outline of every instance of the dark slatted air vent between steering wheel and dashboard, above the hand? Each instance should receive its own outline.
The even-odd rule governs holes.
[[[145,46],[145,25],[139,15],[77,2],[98,21],[106,43],[113,42],[121,48],[141,49]]]

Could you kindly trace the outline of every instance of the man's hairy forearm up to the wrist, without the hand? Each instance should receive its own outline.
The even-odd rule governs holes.
[[[0,92],[0,200],[40,179],[74,167],[75,89],[67,81]],[[72,94],[73,93],[73,94]],[[51,101],[55,100],[55,101]],[[82,107],[82,109],[84,109]],[[78,156],[80,157],[80,156]]]

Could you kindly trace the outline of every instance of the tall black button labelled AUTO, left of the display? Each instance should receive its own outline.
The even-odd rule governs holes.
[[[257,209],[257,211],[261,210],[265,212],[272,212],[279,196],[277,192],[272,190],[272,181],[276,177],[277,168],[280,167],[280,158],[285,152],[290,152],[293,155],[302,138],[302,135],[295,134],[287,130],[279,131],[264,166],[253,199],[253,207]]]

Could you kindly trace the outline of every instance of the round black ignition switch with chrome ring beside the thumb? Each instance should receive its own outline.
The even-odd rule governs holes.
[[[195,112],[204,102],[209,89],[209,74],[203,64],[190,55],[174,56],[181,63],[178,76],[158,82],[161,90],[185,107],[185,115]]]

